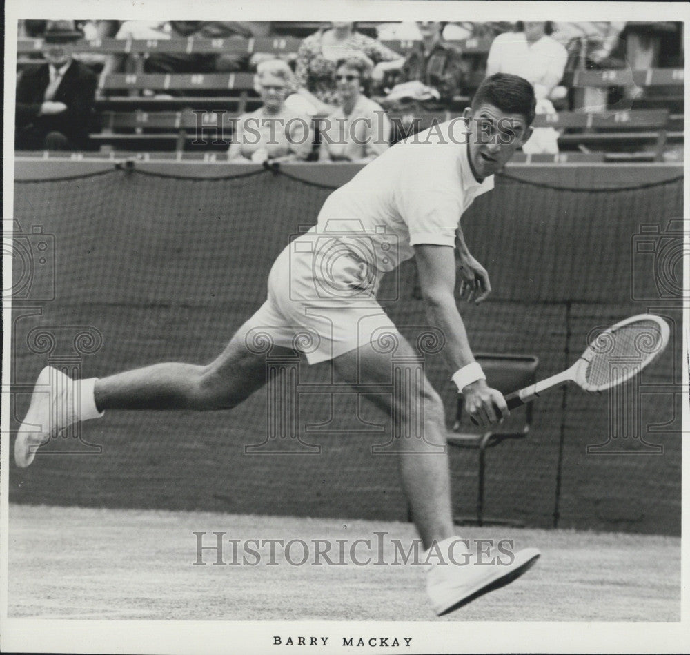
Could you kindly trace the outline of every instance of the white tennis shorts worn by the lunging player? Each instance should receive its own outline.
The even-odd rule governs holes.
[[[312,231],[291,242],[268,275],[266,302],[242,326],[239,336],[248,348],[293,348],[317,364],[365,344],[384,347],[400,339],[376,298],[382,273],[357,252]]]

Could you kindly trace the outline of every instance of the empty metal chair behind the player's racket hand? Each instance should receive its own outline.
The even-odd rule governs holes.
[[[528,384],[533,384],[537,379],[537,367],[539,360],[533,355],[489,355],[477,354],[475,359],[486,373],[486,382],[490,387],[498,389],[501,393],[511,393],[522,389]],[[448,436],[448,444],[451,447],[477,449],[479,451],[479,471],[477,476],[477,516],[476,518],[454,516],[456,525],[522,525],[520,522],[509,519],[487,519],[484,517],[484,483],[486,467],[486,450],[493,448],[507,439],[524,439],[529,433],[532,423],[532,404],[526,404],[525,409],[516,409],[514,415],[521,413],[524,421],[520,421],[515,430],[506,432],[477,433],[477,428],[463,416],[464,402],[462,395],[457,399],[457,414],[453,433]],[[511,427],[515,418],[511,415]]]

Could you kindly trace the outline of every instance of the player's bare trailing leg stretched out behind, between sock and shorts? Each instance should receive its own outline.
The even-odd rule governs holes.
[[[206,366],[168,362],[99,378],[96,407],[100,411],[235,407],[266,384],[266,355],[247,349],[241,334],[242,329]]]

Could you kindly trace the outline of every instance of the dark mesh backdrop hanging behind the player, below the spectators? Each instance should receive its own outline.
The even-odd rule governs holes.
[[[34,248],[32,226],[54,235],[56,292],[39,302],[52,271],[38,266],[15,302],[11,429],[39,370],[49,358],[74,360],[75,334],[84,329],[102,344],[77,358],[83,377],[213,359],[262,304],[275,256],[299,224],[315,222],[328,193],[263,172],[211,180],[135,170],[17,183],[19,241]],[[654,284],[653,256],[631,254],[641,224],[665,226],[680,216],[680,180],[602,193],[497,179],[463,217],[494,288],[491,302],[461,307],[473,349],[538,355],[546,377],[575,361],[596,326],[650,309],[680,328],[682,312],[669,309]],[[15,280],[26,280],[26,262],[15,256],[14,264]],[[410,262],[400,268],[400,283],[400,302],[388,307],[394,322],[424,326]],[[631,289],[648,302],[633,302]],[[39,327],[57,335],[55,344],[37,346]],[[529,438],[487,456],[486,514],[536,527],[557,520],[561,527],[680,534],[680,329],[671,338],[635,382],[640,429],[626,440],[606,445],[607,395],[573,387],[544,395]],[[451,371],[439,355],[428,358],[427,371],[451,423]],[[299,366],[300,382],[330,375],[328,364]],[[386,432],[361,433],[352,395],[336,395],[331,407],[325,393],[303,394],[299,431],[320,452],[248,454],[245,446],[266,436],[266,393],[230,412],[109,412],[81,428],[83,442],[102,446],[101,454],[72,436],[54,440],[28,469],[12,466],[10,500],[404,520],[396,458],[371,454],[390,434],[390,418],[365,401],[362,420],[383,423]],[[331,413],[337,433],[304,431]],[[601,447],[588,454],[588,446]],[[79,452],[55,452],[61,449]],[[476,452],[453,451],[451,467],[455,509],[470,515]]]

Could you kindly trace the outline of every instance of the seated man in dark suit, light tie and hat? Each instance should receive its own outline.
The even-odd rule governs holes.
[[[43,35],[48,63],[28,68],[17,84],[17,150],[85,150],[98,77],[72,58],[81,39],[73,21],[49,21]]]

